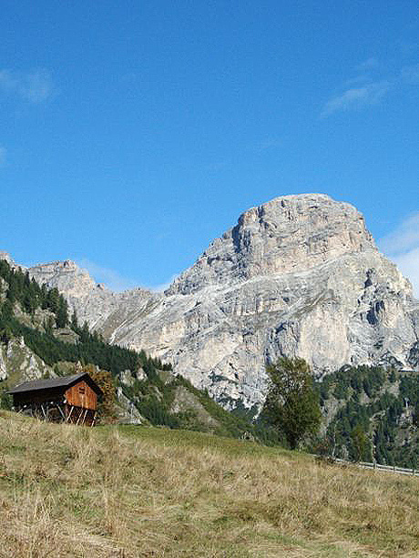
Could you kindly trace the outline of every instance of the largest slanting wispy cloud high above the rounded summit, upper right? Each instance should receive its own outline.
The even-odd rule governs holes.
[[[352,87],[343,91],[341,95],[334,96],[323,107],[322,117],[328,117],[340,110],[353,110],[378,103],[390,89],[391,83],[387,80]]]

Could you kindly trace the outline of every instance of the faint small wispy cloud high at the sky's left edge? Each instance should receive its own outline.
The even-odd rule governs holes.
[[[49,72],[45,68],[28,72],[0,70],[0,91],[15,95],[29,103],[39,104],[54,93],[54,86]]]

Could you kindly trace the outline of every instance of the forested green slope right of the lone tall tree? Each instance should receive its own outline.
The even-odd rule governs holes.
[[[318,389],[323,451],[345,459],[417,468],[417,373],[346,366],[324,377]]]

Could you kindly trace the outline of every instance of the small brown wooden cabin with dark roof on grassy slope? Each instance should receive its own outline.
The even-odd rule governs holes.
[[[97,398],[103,395],[97,383],[82,372],[48,380],[25,381],[8,391],[15,411],[47,421],[64,421],[93,426]]]

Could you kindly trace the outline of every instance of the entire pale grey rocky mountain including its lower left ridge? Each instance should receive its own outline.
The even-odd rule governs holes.
[[[419,366],[419,304],[375,247],[363,216],[321,194],[250,208],[165,293],[112,293],[72,262],[30,272],[58,287],[107,339],[169,360],[233,407],[260,404],[265,363],[300,356]]]

